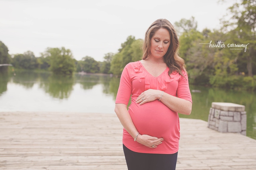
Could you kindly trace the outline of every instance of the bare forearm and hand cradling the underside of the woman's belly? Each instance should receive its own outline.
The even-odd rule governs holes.
[[[125,130],[133,138],[135,138],[136,135],[138,134],[138,131],[132,122],[132,118],[127,110],[127,105],[121,104],[121,103],[116,103],[115,112],[116,112],[116,115],[119,118],[121,124],[125,128]],[[137,136],[137,139],[136,139],[137,142],[139,142],[147,147],[150,147],[150,148],[152,148],[152,145],[155,145],[155,147],[156,147],[157,145],[161,144],[163,140],[164,140],[163,138],[157,138],[157,137],[152,137],[149,135],[140,135],[140,134]]]

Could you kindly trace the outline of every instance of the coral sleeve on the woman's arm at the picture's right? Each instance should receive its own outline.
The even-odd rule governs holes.
[[[185,78],[183,76],[180,76],[177,88],[177,97],[188,100],[192,103],[192,97],[188,85],[188,75],[184,70],[182,71],[182,74]]]

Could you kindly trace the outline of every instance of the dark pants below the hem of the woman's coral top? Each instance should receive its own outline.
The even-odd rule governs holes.
[[[178,152],[174,154],[138,153],[123,144],[128,170],[175,170]]]

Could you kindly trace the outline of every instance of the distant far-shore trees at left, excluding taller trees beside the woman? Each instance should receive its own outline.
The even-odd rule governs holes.
[[[113,53],[105,54],[104,61],[96,61],[94,58],[85,56],[77,61],[73,58],[70,49],[47,48],[36,57],[32,51],[26,51],[23,54],[8,54],[8,48],[0,41],[0,64],[12,64],[17,69],[40,69],[49,70],[54,74],[72,75],[73,72],[86,73],[110,73],[110,62]],[[0,67],[6,70],[6,67]]]

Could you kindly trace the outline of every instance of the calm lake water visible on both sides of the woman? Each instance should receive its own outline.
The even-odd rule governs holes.
[[[56,76],[50,73],[16,71],[0,74],[0,112],[84,112],[115,114],[120,78],[108,75]],[[207,121],[212,102],[245,105],[247,136],[256,139],[256,94],[190,85],[193,108],[184,118]]]

